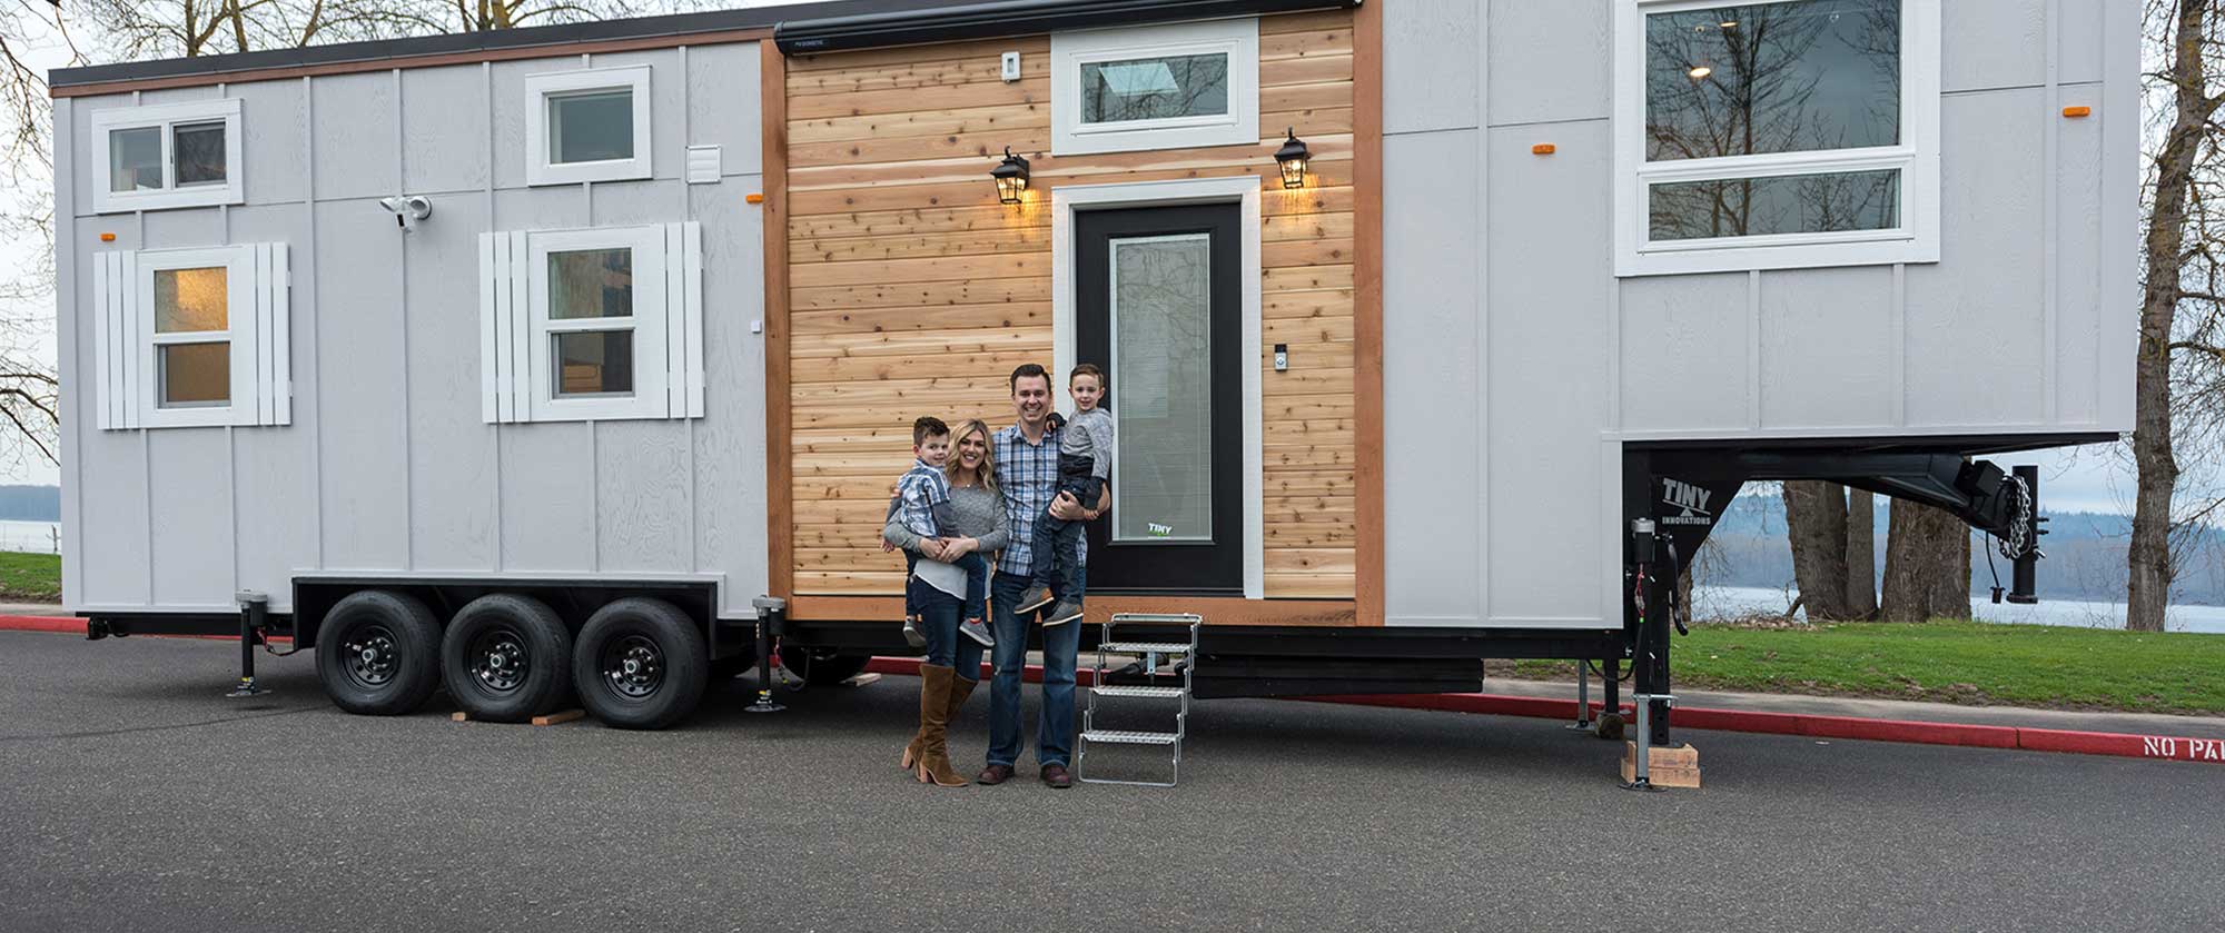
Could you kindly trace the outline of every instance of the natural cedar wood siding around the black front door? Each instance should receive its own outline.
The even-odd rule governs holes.
[[[1353,11],[1259,20],[1257,144],[1070,158],[1048,156],[1048,36],[785,60],[792,593],[899,595],[903,564],[874,544],[912,418],[1010,424],[1006,375],[1050,362],[1046,189],[1259,175],[1266,595],[1315,613],[1266,620],[1353,624]],[[1021,80],[1006,84],[1012,49]],[[1275,178],[1286,127],[1313,149],[1299,191]],[[988,178],[1003,147],[1032,162],[1019,207]],[[1286,373],[1277,342],[1299,362]],[[799,602],[801,618],[868,606]]]

